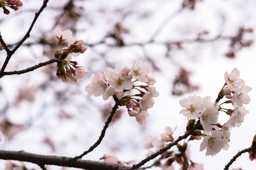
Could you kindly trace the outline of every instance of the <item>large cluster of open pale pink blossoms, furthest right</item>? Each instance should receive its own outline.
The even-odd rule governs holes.
[[[240,71],[233,69],[232,72],[225,73],[225,84],[222,87],[216,101],[210,101],[210,97],[189,96],[187,99],[181,99],[180,105],[184,109],[181,114],[190,118],[189,124],[195,124],[195,120],[200,120],[201,129],[204,133],[198,135],[204,136],[203,142],[200,145],[200,151],[207,149],[206,155],[216,155],[222,149],[226,150],[230,142],[230,129],[240,126],[243,122],[243,117],[249,113],[243,107],[243,104],[248,104],[250,97],[247,95],[251,91],[249,86],[245,85],[245,81],[239,78]],[[222,104],[218,104],[223,97],[226,101],[222,104],[232,104],[234,109],[222,108]],[[229,115],[229,120],[224,124],[218,123],[218,115],[220,111]]]

